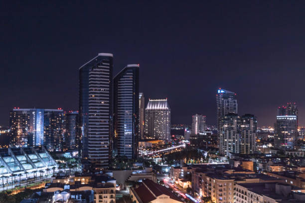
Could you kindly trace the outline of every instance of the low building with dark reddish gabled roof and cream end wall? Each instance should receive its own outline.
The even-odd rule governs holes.
[[[164,186],[151,180],[144,180],[139,187],[130,188],[133,203],[181,203],[176,196]]]

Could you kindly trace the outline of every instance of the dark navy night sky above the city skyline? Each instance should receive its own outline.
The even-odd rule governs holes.
[[[90,2],[90,3],[89,3]],[[8,4],[9,3],[9,4]],[[273,125],[297,102],[305,124],[304,1],[10,1],[0,3],[0,124],[14,106],[78,110],[78,69],[114,54],[140,64],[140,91],[168,98],[172,123],[216,123],[216,90]]]

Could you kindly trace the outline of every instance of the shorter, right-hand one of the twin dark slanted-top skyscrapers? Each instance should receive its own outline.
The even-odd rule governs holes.
[[[114,131],[119,156],[135,159],[139,139],[139,65],[114,77]]]

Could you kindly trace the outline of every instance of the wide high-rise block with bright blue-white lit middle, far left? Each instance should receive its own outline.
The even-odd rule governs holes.
[[[10,146],[41,146],[61,151],[63,110],[14,108],[10,111]]]

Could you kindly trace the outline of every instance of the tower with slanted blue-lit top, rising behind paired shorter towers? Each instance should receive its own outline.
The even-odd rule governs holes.
[[[219,88],[216,94],[217,129],[220,132],[222,119],[229,113],[237,114],[236,93]]]

